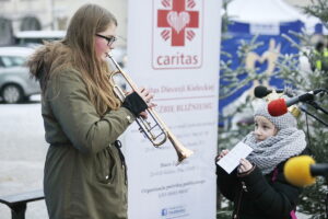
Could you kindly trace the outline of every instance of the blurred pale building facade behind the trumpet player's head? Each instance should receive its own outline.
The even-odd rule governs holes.
[[[19,31],[66,30],[70,18],[86,0],[0,0],[0,46],[13,44]],[[127,0],[94,0],[118,20],[118,35],[127,33]]]

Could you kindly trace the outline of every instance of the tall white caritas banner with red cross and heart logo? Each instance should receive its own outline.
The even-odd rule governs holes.
[[[177,164],[134,123],[126,134],[130,219],[214,219],[221,1],[129,1],[127,72],[194,154]]]

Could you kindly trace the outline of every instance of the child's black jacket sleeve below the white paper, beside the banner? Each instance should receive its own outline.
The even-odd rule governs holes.
[[[236,185],[238,178],[236,177],[236,171],[233,171],[231,174],[227,174],[222,168],[216,165],[216,185],[221,194],[230,200],[235,199],[236,195]]]

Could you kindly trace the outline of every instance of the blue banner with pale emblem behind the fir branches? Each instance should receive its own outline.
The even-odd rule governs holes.
[[[245,94],[253,94],[254,89],[259,84],[273,87],[276,89],[284,88],[284,81],[274,74],[277,62],[279,62],[279,55],[297,54],[298,49],[282,35],[286,35],[297,43],[300,39],[291,32],[301,33],[302,27],[303,23],[300,21],[274,24],[234,22],[229,25],[227,33],[231,37],[222,42],[221,49],[230,54],[230,56],[222,56],[221,60],[225,62],[231,60],[230,67],[233,70],[237,69],[241,65],[245,65],[249,70],[256,70],[259,74],[267,74],[270,80],[253,80],[232,95],[221,99],[219,102],[219,112],[221,115],[226,116],[226,114],[230,114],[236,108],[236,103],[245,102]],[[257,36],[256,43],[261,43],[262,45],[259,45],[256,49],[246,54],[245,64],[242,64],[236,53],[242,45],[241,42],[245,41],[246,43],[250,43],[255,36]],[[241,84],[246,77],[246,73],[239,77]],[[225,82],[223,77],[221,77],[220,85],[230,85],[230,83]]]

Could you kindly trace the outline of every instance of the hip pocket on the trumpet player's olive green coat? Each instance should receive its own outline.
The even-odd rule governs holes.
[[[95,174],[99,183],[112,184],[116,177],[116,160],[109,148],[98,152],[95,159]]]

